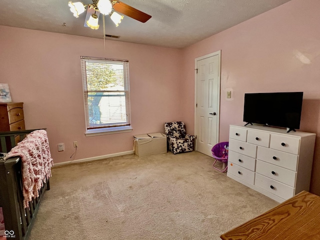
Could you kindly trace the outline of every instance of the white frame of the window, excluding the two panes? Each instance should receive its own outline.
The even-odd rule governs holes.
[[[121,59],[109,59],[109,58],[99,58],[99,57],[88,57],[81,56],[81,71],[82,71],[82,86],[83,86],[83,101],[84,101],[84,112],[85,112],[85,135],[94,136],[102,134],[111,133],[121,133],[132,131],[131,119],[130,119],[130,85],[129,85],[129,70],[128,70],[128,60]],[[106,64],[122,64],[123,69],[123,84],[124,90],[88,90],[87,85],[87,71],[86,62],[97,62]],[[123,123],[96,123],[91,124],[89,122],[89,105],[88,96],[90,92],[103,92],[103,93],[121,93],[123,92],[125,96],[125,113],[126,120]]]

